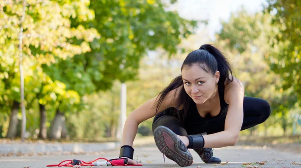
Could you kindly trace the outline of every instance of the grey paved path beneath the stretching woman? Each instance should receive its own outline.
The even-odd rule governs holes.
[[[301,154],[285,152],[269,147],[256,146],[231,146],[225,148],[218,148],[214,150],[214,156],[222,159],[222,163],[229,161],[226,165],[211,165],[204,164],[198,155],[190,150],[194,163],[191,167],[301,167],[301,165],[293,165],[292,162],[301,163]],[[13,156],[1,157],[0,167],[46,167],[48,164],[58,164],[66,159],[80,159],[84,161],[91,161],[99,157],[108,159],[116,158],[119,155],[119,149],[110,151],[100,151],[98,153],[70,155],[69,153],[57,153],[55,155],[36,155],[36,156]],[[173,161],[165,158],[152,145],[145,145],[144,147],[136,147],[134,158],[138,158],[143,164],[143,167],[179,167]],[[243,166],[243,163],[248,162],[262,162],[267,161],[266,165],[254,164],[253,166]],[[90,166],[87,166],[90,167]]]

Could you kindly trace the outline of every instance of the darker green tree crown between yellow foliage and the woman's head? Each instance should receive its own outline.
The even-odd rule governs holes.
[[[80,96],[108,90],[115,80],[134,79],[148,50],[161,47],[175,53],[177,44],[196,26],[195,21],[166,12],[160,1],[93,0],[89,7],[95,19],[86,24],[74,19],[71,26],[97,29],[101,38],[89,43],[91,52],[43,66],[53,80],[62,81],[67,90]]]

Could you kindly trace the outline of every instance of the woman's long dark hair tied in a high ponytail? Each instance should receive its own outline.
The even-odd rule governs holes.
[[[181,71],[183,68],[191,67],[193,64],[198,64],[207,73],[211,73],[212,75],[214,75],[216,71],[219,71],[220,78],[218,81],[218,89],[220,91],[224,91],[224,83],[226,79],[231,82],[233,81],[233,74],[230,63],[221,53],[221,51],[212,45],[205,44],[202,45],[200,49],[190,52],[182,64]],[[181,120],[184,120],[189,110],[189,104],[193,102],[193,100],[187,95],[184,90],[182,75],[174,78],[172,82],[159,93],[159,99],[158,101],[156,100],[156,103],[154,104],[154,106],[156,105],[156,113],[158,112],[159,107],[168,92],[178,87],[180,87],[180,91],[179,96],[176,99],[177,107],[174,112],[177,113],[178,117]],[[183,106],[184,112],[177,110],[181,105]]]

